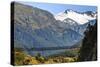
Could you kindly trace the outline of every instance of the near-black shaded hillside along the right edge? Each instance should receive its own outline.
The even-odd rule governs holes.
[[[88,28],[84,34],[85,37],[80,49],[78,61],[97,60],[97,20],[95,25],[88,25]]]

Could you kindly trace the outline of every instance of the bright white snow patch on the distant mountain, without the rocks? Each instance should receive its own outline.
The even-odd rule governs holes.
[[[70,18],[76,21],[78,24],[85,24],[90,20],[96,19],[96,17],[89,16],[87,14],[77,13],[75,11],[68,11],[67,13],[61,12],[55,16],[56,20],[64,21],[65,19]]]

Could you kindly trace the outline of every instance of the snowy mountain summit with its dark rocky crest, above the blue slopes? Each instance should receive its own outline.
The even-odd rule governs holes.
[[[73,10],[65,10],[63,12],[58,13],[55,16],[56,20],[60,20],[65,23],[78,23],[78,24],[85,24],[89,22],[90,20],[96,19],[96,13],[93,13],[92,11],[87,12],[77,12]]]

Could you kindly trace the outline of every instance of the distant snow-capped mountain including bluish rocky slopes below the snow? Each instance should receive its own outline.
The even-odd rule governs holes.
[[[79,34],[83,35],[88,24],[94,24],[96,20],[97,13],[92,11],[77,12],[71,9],[60,12],[55,16],[55,19],[59,23],[63,23],[62,27],[70,28]],[[60,24],[60,25],[61,25]]]

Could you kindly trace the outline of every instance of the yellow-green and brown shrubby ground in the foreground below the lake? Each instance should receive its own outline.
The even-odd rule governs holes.
[[[75,52],[76,49],[70,50]],[[68,53],[69,51],[67,51]],[[32,64],[53,64],[53,63],[68,63],[76,62],[77,57],[68,57],[65,53],[53,55],[49,57],[43,57],[40,54],[36,56],[30,56],[23,51],[15,50],[15,65],[32,65]]]

